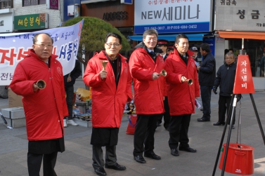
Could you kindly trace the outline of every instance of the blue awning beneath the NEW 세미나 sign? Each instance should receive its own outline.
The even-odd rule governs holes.
[[[168,41],[175,41],[175,38],[178,34],[169,34],[169,35],[163,35],[159,34],[158,39],[164,39]],[[186,34],[188,36],[189,41],[202,41],[203,36],[206,34]],[[129,38],[133,41],[143,41],[143,35],[134,35],[134,36],[129,36]]]

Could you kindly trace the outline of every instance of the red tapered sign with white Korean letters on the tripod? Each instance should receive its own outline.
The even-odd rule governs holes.
[[[233,87],[233,94],[243,93],[255,93],[248,55],[238,55]]]

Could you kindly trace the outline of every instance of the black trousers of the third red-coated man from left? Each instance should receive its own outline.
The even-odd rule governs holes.
[[[161,114],[137,115],[136,127],[134,131],[134,156],[142,156],[151,153],[155,149],[155,128],[157,128],[157,118]],[[143,146],[144,145],[144,146]]]

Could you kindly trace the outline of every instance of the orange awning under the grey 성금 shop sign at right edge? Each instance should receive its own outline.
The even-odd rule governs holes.
[[[221,38],[265,40],[265,32],[218,31]]]

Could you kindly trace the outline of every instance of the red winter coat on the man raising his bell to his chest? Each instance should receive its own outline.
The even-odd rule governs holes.
[[[101,60],[108,60],[105,51],[94,55],[86,66],[83,80],[87,86],[91,86],[93,128],[119,128],[125,104],[131,101],[131,74],[127,58],[118,55],[121,58],[122,69],[117,88],[109,62],[105,67],[108,72],[107,78],[102,80],[100,76]]]

